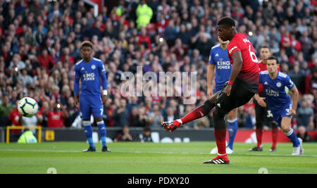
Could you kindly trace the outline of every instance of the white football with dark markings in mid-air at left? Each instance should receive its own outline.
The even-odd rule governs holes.
[[[35,115],[38,109],[39,109],[39,106],[37,105],[37,101],[35,101],[35,99],[32,99],[30,97],[24,97],[18,103],[19,113],[28,118]]]

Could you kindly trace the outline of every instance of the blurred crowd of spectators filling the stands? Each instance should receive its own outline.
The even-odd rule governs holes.
[[[206,68],[211,46],[218,42],[216,23],[230,16],[255,49],[271,47],[281,71],[299,87],[293,127],[317,128],[316,1],[120,0],[118,6],[102,7],[97,16],[84,1],[0,0],[0,5],[2,126],[30,124],[16,111],[23,96],[39,104],[33,124],[80,126],[73,84],[84,40],[94,44],[94,57],[106,68],[107,127],[155,128],[161,121],[180,118],[208,98]],[[127,71],[136,74],[138,66],[143,73],[195,75],[196,104],[185,105],[184,96],[126,96],[120,92],[126,82],[121,76]],[[182,92],[168,84],[159,93],[170,90]],[[238,116],[239,127],[254,127],[254,104],[241,106]],[[213,127],[212,114],[183,127]]]

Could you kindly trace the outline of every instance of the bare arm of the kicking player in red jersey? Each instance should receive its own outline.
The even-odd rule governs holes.
[[[242,68],[243,61],[242,61],[241,51],[233,52],[232,60],[233,60],[233,65],[232,65],[229,82],[235,82],[235,78],[237,77],[237,75],[239,75],[240,70]],[[225,87],[225,94],[229,96],[230,91],[231,91],[231,85],[227,84],[227,87]]]

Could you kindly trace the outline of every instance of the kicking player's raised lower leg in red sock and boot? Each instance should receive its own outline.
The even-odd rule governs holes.
[[[216,99],[219,93],[220,92],[213,94],[213,96],[209,97],[209,99],[205,101],[203,105],[198,106],[193,111],[187,113],[187,115],[185,115],[183,118],[180,118],[178,120],[173,120],[170,122],[163,122],[161,123],[161,125],[166,131],[172,132],[173,130],[176,130],[178,127],[180,127],[180,125],[183,125],[185,123],[191,122],[192,120],[196,120],[198,118],[204,117],[211,111],[213,107],[216,106]]]

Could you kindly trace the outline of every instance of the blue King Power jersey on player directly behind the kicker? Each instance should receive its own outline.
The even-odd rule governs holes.
[[[209,64],[215,65],[216,85],[223,85],[230,78],[231,64],[227,49],[222,49],[220,44],[213,46],[210,51]]]

